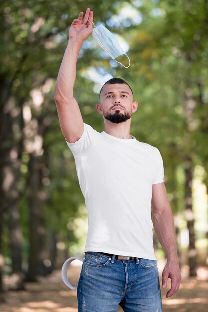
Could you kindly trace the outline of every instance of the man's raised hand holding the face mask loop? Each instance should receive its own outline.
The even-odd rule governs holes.
[[[69,28],[69,38],[84,40],[92,33],[93,11],[87,8],[84,19],[83,16],[84,13],[80,12],[78,18],[73,20]]]

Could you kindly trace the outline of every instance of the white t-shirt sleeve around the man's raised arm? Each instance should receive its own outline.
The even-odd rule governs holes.
[[[74,143],[69,143],[67,141],[66,143],[74,156],[81,156],[87,152],[87,150],[96,140],[97,134],[98,132],[96,130],[84,123],[84,132],[81,138]]]

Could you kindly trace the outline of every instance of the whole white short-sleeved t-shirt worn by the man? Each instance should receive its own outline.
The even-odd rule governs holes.
[[[152,239],[152,185],[163,182],[157,148],[97,132],[84,124],[68,143],[88,210],[86,251],[155,260]]]

